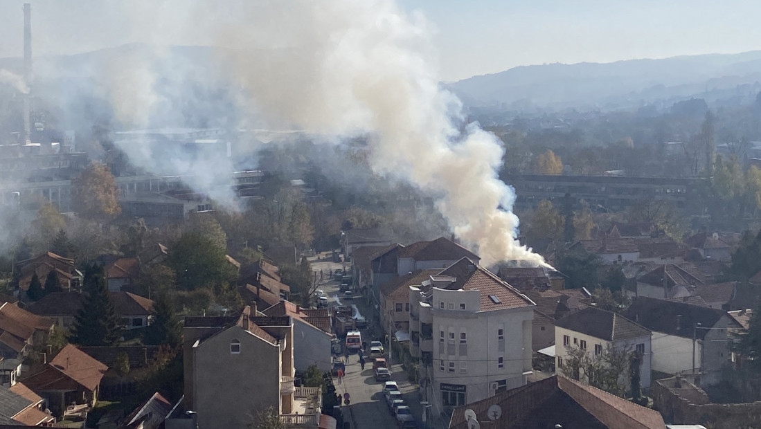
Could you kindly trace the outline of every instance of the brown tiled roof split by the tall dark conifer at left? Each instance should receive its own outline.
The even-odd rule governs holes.
[[[109,297],[116,312],[123,316],[151,314],[153,301],[129,292],[110,291]],[[38,316],[75,316],[82,306],[83,295],[78,292],[53,292],[32,303],[27,310]]]

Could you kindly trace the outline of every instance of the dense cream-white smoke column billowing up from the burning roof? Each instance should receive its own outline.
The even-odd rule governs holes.
[[[422,16],[391,0],[268,2],[244,13],[264,24],[225,26],[221,43],[285,48],[266,61],[242,50],[234,57],[256,113],[308,132],[369,133],[371,167],[435,195],[485,265],[545,264],[516,240],[514,192],[498,179],[500,143],[475,124],[461,130],[459,100],[438,86]]]

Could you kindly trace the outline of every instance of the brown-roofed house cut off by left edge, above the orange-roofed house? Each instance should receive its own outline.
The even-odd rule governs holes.
[[[33,345],[43,345],[53,330],[53,321],[12,303],[0,303],[0,359],[3,359],[3,378],[11,385],[18,377],[21,361]],[[5,372],[5,371],[9,372]]]

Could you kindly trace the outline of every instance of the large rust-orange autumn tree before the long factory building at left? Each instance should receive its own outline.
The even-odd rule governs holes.
[[[119,189],[111,171],[93,161],[72,180],[72,202],[77,214],[95,221],[109,221],[122,212]]]

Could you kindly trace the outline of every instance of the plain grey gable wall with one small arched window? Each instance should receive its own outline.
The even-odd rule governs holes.
[[[240,341],[240,354],[230,343]],[[238,326],[193,350],[193,411],[199,429],[246,429],[250,415],[272,407],[280,413],[280,348]]]

